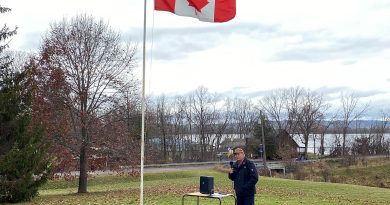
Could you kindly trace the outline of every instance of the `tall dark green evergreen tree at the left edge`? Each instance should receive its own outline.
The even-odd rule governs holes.
[[[10,11],[0,7],[0,13]],[[6,25],[0,42],[16,33]],[[47,181],[51,159],[44,141],[44,128],[32,123],[28,70],[12,71],[12,59],[4,56],[7,43],[0,44],[0,203],[32,199]]]

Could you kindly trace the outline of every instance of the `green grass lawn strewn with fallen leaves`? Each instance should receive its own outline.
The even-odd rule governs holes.
[[[216,192],[232,193],[227,174],[197,170],[146,174],[145,204],[181,204],[184,193],[199,190],[199,176],[214,176]],[[129,176],[105,176],[89,180],[88,194],[76,194],[77,180],[50,181],[40,196],[25,204],[138,204],[139,181]],[[256,204],[390,204],[390,189],[261,177]],[[207,201],[206,201],[207,200]],[[185,204],[196,204],[186,197]],[[232,199],[223,204],[234,204]],[[201,199],[200,204],[219,204]]]

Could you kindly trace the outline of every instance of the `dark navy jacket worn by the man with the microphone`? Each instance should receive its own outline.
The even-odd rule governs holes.
[[[237,196],[250,196],[256,194],[256,183],[259,180],[255,164],[244,159],[242,164],[233,164],[233,173],[229,173],[229,179],[234,181],[234,190]]]

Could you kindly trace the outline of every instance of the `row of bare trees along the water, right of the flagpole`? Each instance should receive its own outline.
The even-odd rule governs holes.
[[[385,138],[388,114],[383,112],[382,120],[363,127],[361,119],[369,105],[360,103],[353,94],[342,95],[342,107],[336,113],[330,113],[331,106],[322,94],[301,87],[274,90],[257,103],[249,98],[221,100],[221,97],[204,87],[183,96],[155,97],[148,106],[147,121],[148,144],[154,147],[153,151],[161,153],[153,155],[155,160],[215,160],[218,152],[226,151],[227,142],[261,137],[256,131],[260,110],[272,128],[265,133],[266,141],[272,142],[269,138],[286,131],[302,142],[302,154],[306,157],[308,142],[314,136],[320,141],[318,153],[322,156],[325,149],[334,156],[359,153],[353,150],[364,146],[360,138],[370,142],[368,147],[372,147],[372,151],[368,154],[389,152],[389,140]],[[359,136],[356,136],[357,131],[360,131]],[[331,147],[325,147],[325,134],[334,136]],[[270,143],[266,143],[267,146],[271,148]]]

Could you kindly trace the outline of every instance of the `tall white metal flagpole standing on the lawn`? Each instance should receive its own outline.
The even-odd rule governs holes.
[[[141,180],[140,180],[140,194],[139,204],[144,204],[144,156],[145,156],[145,54],[146,54],[146,1],[144,0],[144,34],[143,34],[143,48],[142,48],[142,100],[141,100]]]

